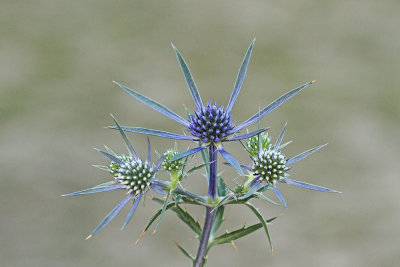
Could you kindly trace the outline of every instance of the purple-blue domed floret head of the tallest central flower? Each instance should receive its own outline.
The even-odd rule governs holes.
[[[196,109],[194,115],[189,116],[189,132],[204,143],[218,143],[231,134],[233,121],[231,114],[224,106],[217,107],[207,103],[207,107]]]

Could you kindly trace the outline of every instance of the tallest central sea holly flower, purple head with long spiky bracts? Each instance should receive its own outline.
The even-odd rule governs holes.
[[[172,45],[172,48],[176,53],[180,67],[184,74],[186,83],[189,87],[190,93],[196,104],[196,109],[194,110],[194,113],[189,114],[188,119],[182,118],[181,116],[179,116],[169,108],[163,106],[162,104],[156,102],[155,100],[150,99],[132,89],[129,89],[128,87],[120,83],[114,82],[116,85],[121,87],[128,94],[130,94],[140,102],[146,104],[147,106],[153,108],[154,110],[162,113],[163,115],[185,126],[188,132],[192,136],[180,135],[161,130],[142,128],[142,127],[123,126],[121,128],[127,132],[155,135],[155,136],[178,139],[178,140],[191,140],[200,143],[199,147],[183,152],[173,157],[171,160],[178,160],[183,157],[189,156],[191,154],[197,153],[207,147],[215,146],[216,151],[219,151],[222,157],[226,161],[228,161],[233,167],[235,167],[235,169],[239,172],[240,175],[244,175],[240,168],[239,162],[223,148],[222,143],[228,141],[242,140],[245,138],[255,136],[263,131],[266,131],[267,128],[264,128],[264,129],[258,129],[254,132],[237,135],[241,130],[249,127],[258,119],[264,117],[265,115],[273,111],[275,108],[286,102],[289,98],[296,95],[298,92],[300,92],[301,90],[303,90],[304,88],[306,88],[307,86],[309,86],[314,82],[314,81],[308,82],[298,88],[293,89],[292,91],[289,91],[288,93],[282,95],[281,97],[273,101],[271,104],[264,107],[253,116],[251,116],[245,122],[235,126],[234,121],[231,118],[231,110],[233,108],[233,105],[235,104],[236,98],[238,97],[240,89],[242,87],[242,83],[247,71],[247,66],[249,64],[251,53],[253,51],[254,42],[255,40],[251,42],[250,47],[248,48],[246,55],[243,59],[243,62],[239,68],[236,82],[234,84],[233,91],[226,108],[222,105],[217,106],[216,103],[212,104],[211,102],[208,102],[206,105],[203,104],[203,101],[200,97],[200,93],[197,89],[197,86],[193,80],[192,74],[190,73],[185,60],[183,59],[179,51],[176,49],[176,47]],[[110,128],[116,129],[116,127],[110,127]]]

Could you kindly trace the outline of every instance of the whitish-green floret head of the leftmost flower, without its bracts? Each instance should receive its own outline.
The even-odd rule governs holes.
[[[151,179],[154,176],[153,168],[149,162],[134,160],[131,157],[120,156],[123,164],[111,162],[109,170],[114,178],[128,190],[128,194],[135,196],[145,192],[151,185]]]

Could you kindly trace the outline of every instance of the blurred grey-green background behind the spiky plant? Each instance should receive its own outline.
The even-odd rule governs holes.
[[[286,154],[329,143],[296,164],[293,178],[343,191],[282,185],[289,208],[257,202],[275,253],[258,231],[209,255],[209,266],[396,266],[400,261],[400,3],[385,1],[9,1],[0,4],[0,265],[189,266],[197,240],[168,212],[135,245],[159,207],[150,200],[124,231],[123,212],[84,238],[122,198],[60,195],[109,179],[94,147],[124,152],[123,125],[182,132],[112,80],[183,115],[194,107],[170,42],[180,49],[204,100],[226,104],[250,41],[257,37],[233,116],[242,122],[278,96],[318,82],[263,119],[276,138],[288,122]],[[131,135],[145,153],[145,137]],[[173,145],[152,138],[158,151]],[[181,142],[185,149],[189,143]],[[249,163],[240,145],[228,146]],[[221,166],[222,167],[222,166]],[[234,172],[224,176],[232,180]],[[231,182],[230,182],[231,183]],[[184,183],[205,192],[196,174]],[[271,197],[273,197],[271,195]],[[187,207],[203,222],[204,211]],[[256,223],[227,209],[232,230]]]

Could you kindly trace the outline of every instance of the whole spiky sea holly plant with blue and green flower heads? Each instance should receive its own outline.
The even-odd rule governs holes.
[[[177,134],[144,127],[120,126],[118,121],[113,117],[115,126],[109,126],[109,128],[120,132],[129,154],[116,154],[107,147],[105,148],[105,151],[98,150],[106,156],[108,163],[105,166],[96,165],[96,167],[107,171],[113,179],[95,187],[65,195],[76,196],[117,189],[125,191],[126,196],[123,201],[100,222],[89,237],[92,237],[103,229],[119,213],[119,211],[121,211],[121,209],[131,201],[133,204],[124,221],[123,227],[125,227],[132,218],[140,200],[151,190],[160,194],[159,197],[153,196],[152,199],[161,206],[160,209],[150,218],[142,235],[137,241],[140,240],[140,238],[155,222],[156,230],[162,222],[165,212],[172,211],[193,231],[194,235],[199,240],[196,254],[191,254],[178,243],[176,243],[177,247],[192,261],[193,266],[205,266],[207,255],[212,247],[225,243],[233,244],[235,240],[247,236],[258,229],[264,230],[267,236],[268,245],[271,248],[271,251],[273,251],[269,224],[277,217],[269,219],[264,218],[252,202],[254,199],[262,199],[272,205],[280,205],[265,195],[265,192],[273,191],[279,202],[286,208],[286,201],[277,187],[278,183],[292,184],[316,191],[338,193],[338,191],[332,189],[288,178],[288,171],[291,168],[291,164],[304,159],[322,148],[324,145],[307,150],[297,156],[287,158],[281,151],[290,143],[287,142],[282,144],[286,125],[283,127],[281,134],[278,136],[274,144],[266,132],[268,127],[262,128],[260,126],[263,117],[302,91],[304,88],[313,84],[314,81],[308,82],[285,93],[269,105],[259,109],[258,112],[242,123],[236,124],[235,120],[231,116],[231,111],[246,75],[254,42],[255,40],[251,42],[247,49],[226,107],[224,105],[217,105],[216,102],[213,103],[211,100],[206,104],[203,103],[189,67],[176,47],[172,45],[186,83],[189,87],[190,94],[192,95],[196,105],[193,112],[187,111],[187,119],[184,119],[184,117],[178,115],[157,101],[150,99],[125,85],[114,82],[136,100],[139,100],[148,107],[181,124],[187,134]],[[249,127],[256,122],[258,122],[258,129],[255,131],[249,131]],[[132,143],[126,135],[126,132],[175,139],[179,141],[191,141],[194,146],[193,148],[180,152],[175,143],[173,148],[159,154],[159,159],[155,164],[153,164],[151,163],[152,150],[149,138],[147,137],[148,156],[146,160],[142,160],[137,155]],[[249,153],[251,159],[249,165],[241,164],[231,153],[225,150],[223,143],[235,141],[239,141],[243,145],[243,151]],[[192,159],[197,154],[201,155],[203,162],[189,168],[189,166],[193,166]],[[238,175],[244,178],[243,183],[238,183],[236,176],[231,178],[223,178],[221,176],[222,172],[221,170],[218,170],[218,155],[222,156],[225,160],[224,163],[228,168],[233,167],[237,171]],[[194,194],[187,191],[184,187],[185,183],[190,183],[192,173],[196,171],[203,172],[203,175],[207,178],[208,192],[205,195]],[[228,187],[226,182],[229,180],[234,181],[236,184],[234,188]],[[183,208],[183,204],[185,204],[185,207],[188,207],[190,204],[203,206],[205,208],[205,221],[202,226],[188,210]],[[219,230],[225,220],[225,207],[233,204],[248,207],[259,220],[259,223],[250,226],[245,225],[239,229],[226,231],[221,234],[219,233]]]

